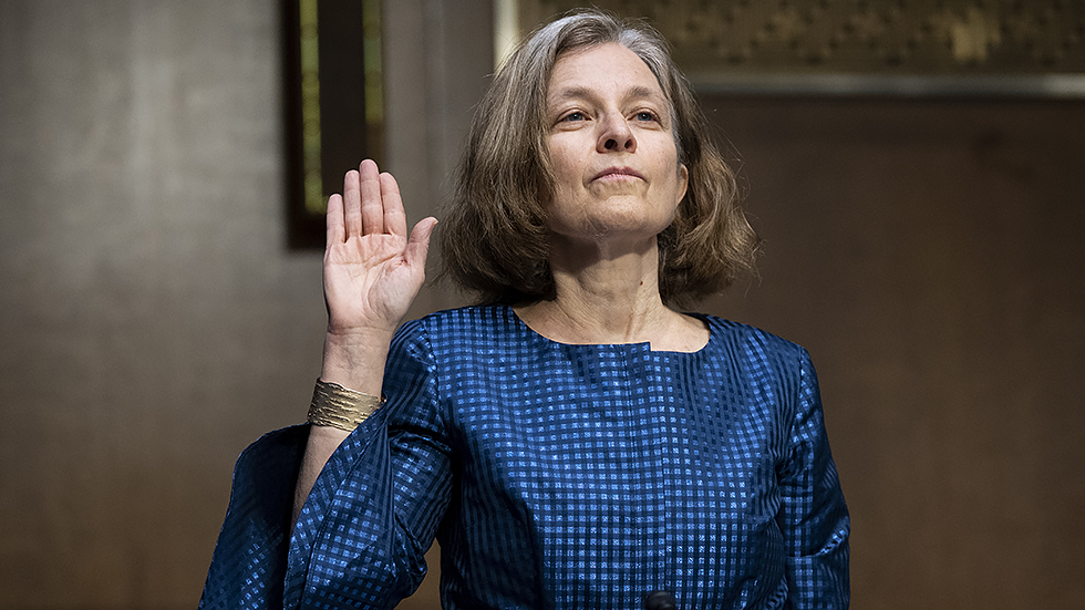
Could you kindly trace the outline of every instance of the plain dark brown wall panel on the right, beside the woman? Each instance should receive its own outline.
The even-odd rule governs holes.
[[[1085,607],[1085,104],[705,99],[806,345],[856,608]]]

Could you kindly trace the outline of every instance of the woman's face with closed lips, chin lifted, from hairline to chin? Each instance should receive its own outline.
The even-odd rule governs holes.
[[[653,242],[671,224],[689,173],[678,163],[670,104],[648,65],[613,43],[562,55],[550,76],[547,120],[554,235]]]

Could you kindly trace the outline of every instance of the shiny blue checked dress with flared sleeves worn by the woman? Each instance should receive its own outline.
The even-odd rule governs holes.
[[[448,609],[634,609],[653,590],[683,610],[846,608],[848,514],[809,355],[702,319],[695,353],[557,343],[499,306],[405,324],[388,402],[291,538],[268,482],[292,485],[306,428],[242,454],[202,608],[391,608],[434,537]]]

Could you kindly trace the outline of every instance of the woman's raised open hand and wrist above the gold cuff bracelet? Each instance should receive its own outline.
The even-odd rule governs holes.
[[[328,200],[327,223],[328,335],[321,376],[379,392],[388,342],[425,279],[436,220],[420,221],[407,236],[395,178],[366,159],[358,172],[347,173],[343,195]]]

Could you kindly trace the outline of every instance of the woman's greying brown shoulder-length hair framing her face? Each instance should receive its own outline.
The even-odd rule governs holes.
[[[685,197],[658,238],[663,301],[692,303],[753,270],[758,238],[741,207],[734,173],[709,137],[704,114],[666,41],[644,23],[577,11],[523,41],[475,110],[438,240],[443,275],[476,292],[480,302],[554,298],[546,213],[555,193],[547,87],[565,53],[607,43],[628,48],[659,80],[671,105],[679,163],[689,169]]]

